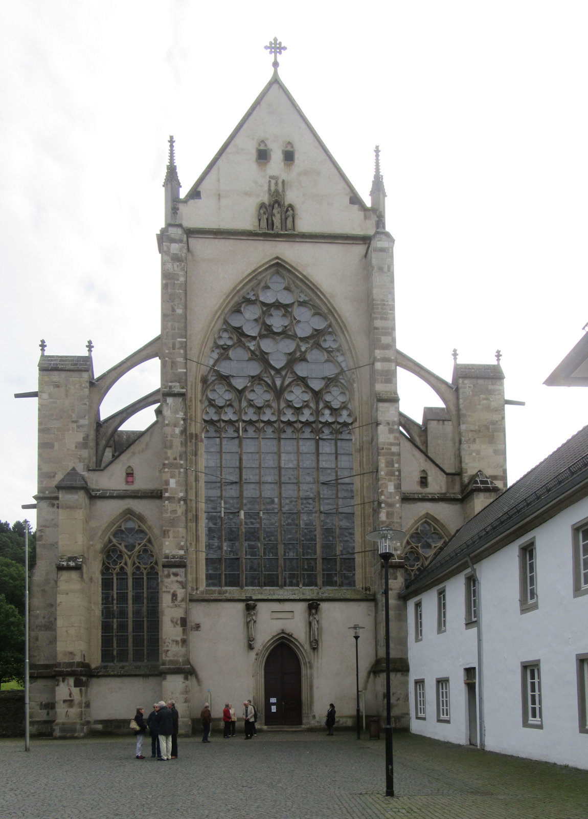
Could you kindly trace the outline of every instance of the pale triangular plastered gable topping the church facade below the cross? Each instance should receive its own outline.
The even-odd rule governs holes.
[[[188,229],[258,230],[258,208],[271,206],[276,188],[284,209],[294,209],[297,233],[375,229],[372,211],[277,74],[180,201],[179,219]]]

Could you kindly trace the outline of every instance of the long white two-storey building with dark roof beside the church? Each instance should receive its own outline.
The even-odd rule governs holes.
[[[402,593],[411,731],[588,767],[588,427]]]

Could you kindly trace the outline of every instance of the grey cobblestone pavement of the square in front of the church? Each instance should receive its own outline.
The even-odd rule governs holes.
[[[150,753],[147,739],[144,749]],[[215,732],[180,758],[134,758],[134,740],[0,740],[2,819],[586,819],[588,771],[394,736],[393,799],[384,740],[351,732]]]

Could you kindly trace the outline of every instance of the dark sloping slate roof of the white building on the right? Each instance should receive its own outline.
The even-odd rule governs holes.
[[[412,595],[434,583],[435,577],[462,563],[466,555],[474,554],[582,482],[586,482],[588,491],[588,426],[458,529],[429,566],[406,584],[402,595]]]

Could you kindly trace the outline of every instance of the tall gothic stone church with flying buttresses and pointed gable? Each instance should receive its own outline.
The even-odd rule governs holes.
[[[385,712],[383,569],[366,534],[406,532],[391,572],[393,724],[406,727],[405,577],[505,489],[500,364],[452,382],[397,350],[394,240],[376,150],[363,201],[272,78],[185,196],[170,139],[161,332],[105,373],[38,364],[31,730],[128,726],[175,699],[190,731],[251,697],[260,726]],[[402,274],[402,273],[401,273]],[[433,341],[433,339],[432,339]],[[44,352],[44,351],[43,351]],[[158,358],[159,389],[103,418]],[[402,414],[397,368],[439,398]],[[121,430],[140,409],[155,422]]]

